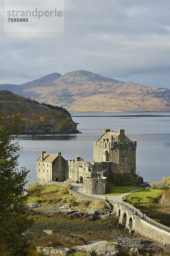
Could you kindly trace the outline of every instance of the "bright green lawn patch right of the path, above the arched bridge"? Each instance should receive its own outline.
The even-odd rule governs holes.
[[[127,195],[127,202],[134,204],[135,207],[144,204],[149,205],[152,204],[150,200],[156,198],[160,194],[162,194],[162,190],[159,189],[142,189],[141,191],[136,191]],[[122,199],[125,199],[125,196],[122,197]]]

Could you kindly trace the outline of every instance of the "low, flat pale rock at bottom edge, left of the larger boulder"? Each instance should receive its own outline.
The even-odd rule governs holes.
[[[38,252],[42,252],[44,256],[50,256],[51,254],[56,256],[57,255],[67,256],[68,254],[71,253],[71,249],[69,248],[54,249],[52,247],[36,247],[36,250]]]

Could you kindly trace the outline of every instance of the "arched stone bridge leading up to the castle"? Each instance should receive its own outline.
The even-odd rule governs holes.
[[[81,191],[81,192],[80,192]],[[104,195],[87,195],[82,190],[72,186],[69,189],[69,193],[79,198],[87,198],[90,200],[104,201],[110,209],[116,212],[119,216],[119,223],[129,230],[130,233],[139,233],[148,239],[153,239],[160,244],[170,245],[170,227],[164,226],[144,214],[142,218],[142,212],[139,209],[133,207],[132,204],[125,203],[124,201],[113,201],[108,196],[108,200],[105,200]],[[121,195],[122,196],[122,195]],[[134,212],[137,211],[137,216]]]

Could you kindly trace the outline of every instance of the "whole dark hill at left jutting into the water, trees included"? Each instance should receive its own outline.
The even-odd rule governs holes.
[[[11,91],[0,90],[0,104],[4,106],[3,113],[6,116],[6,120],[10,116],[11,109],[17,108],[18,111],[22,111],[24,103],[26,103],[26,111],[22,114],[21,126],[26,133],[79,133],[77,124],[73,122],[70,113],[65,108],[42,105],[37,101],[26,99]]]

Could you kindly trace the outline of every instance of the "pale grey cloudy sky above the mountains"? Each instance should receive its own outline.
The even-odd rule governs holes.
[[[88,70],[170,89],[170,0],[65,0],[64,32],[4,32],[0,7],[0,83]]]

